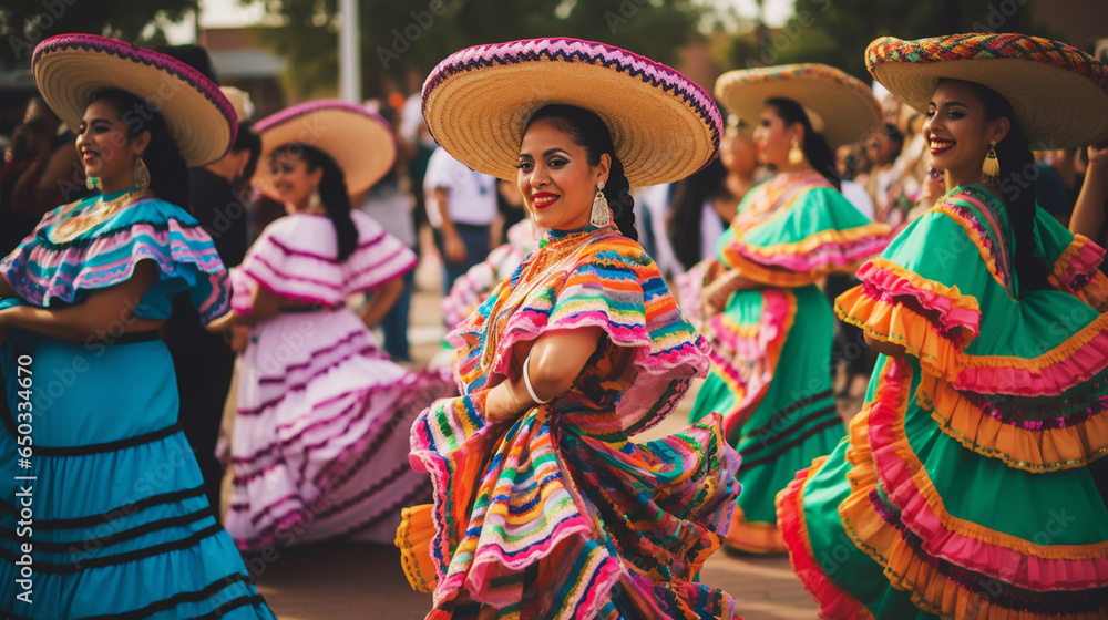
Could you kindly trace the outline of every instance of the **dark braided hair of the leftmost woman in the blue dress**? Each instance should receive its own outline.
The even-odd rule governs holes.
[[[150,144],[142,154],[142,161],[150,172],[150,190],[166,203],[188,209],[188,168],[177,149],[177,143],[170,137],[165,118],[157,110],[120,89],[101,91],[92,101],[106,101],[115,108],[120,120],[126,125],[127,141],[143,132],[150,132]]]

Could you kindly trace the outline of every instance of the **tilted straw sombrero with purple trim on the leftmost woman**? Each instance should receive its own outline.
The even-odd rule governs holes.
[[[165,54],[94,34],[60,34],[39,43],[31,72],[47,105],[74,131],[92,97],[119,89],[165,118],[188,166],[214,162],[235,140],[238,121],[211,80]],[[134,111],[141,118],[145,111]]]

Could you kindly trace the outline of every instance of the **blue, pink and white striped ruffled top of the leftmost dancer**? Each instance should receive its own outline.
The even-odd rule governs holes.
[[[157,265],[161,278],[135,309],[144,318],[168,318],[171,298],[188,291],[207,323],[229,307],[229,287],[212,238],[187,211],[155,198],[135,202],[66,240],[55,228],[94,199],[47,214],[34,234],[0,262],[0,273],[25,302],[51,308],[80,303],[93,290],[126,281],[141,260]]]

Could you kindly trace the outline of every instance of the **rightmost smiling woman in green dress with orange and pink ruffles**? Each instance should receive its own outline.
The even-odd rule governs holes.
[[[1029,147],[1108,134],[1108,68],[1020,34],[865,60],[951,189],[838,299],[882,355],[850,436],[778,495],[793,568],[825,618],[1105,618],[1105,251],[1036,209]]]

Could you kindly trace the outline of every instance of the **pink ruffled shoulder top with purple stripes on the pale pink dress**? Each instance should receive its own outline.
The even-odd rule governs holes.
[[[377,221],[351,211],[358,246],[339,262],[338,240],[325,216],[298,214],[270,224],[243,265],[232,271],[234,309],[253,311],[257,287],[294,301],[337,307],[416,267],[416,254]]]

